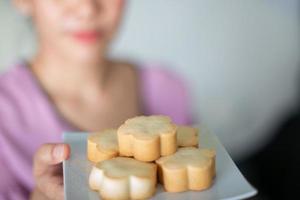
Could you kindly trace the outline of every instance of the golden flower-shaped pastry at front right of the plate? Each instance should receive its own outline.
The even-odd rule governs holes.
[[[215,151],[184,147],[156,160],[159,181],[167,192],[204,190],[215,176]]]

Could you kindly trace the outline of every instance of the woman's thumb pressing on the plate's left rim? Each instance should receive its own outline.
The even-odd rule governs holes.
[[[44,144],[34,155],[33,173],[40,176],[47,172],[53,165],[68,159],[70,147],[67,144]]]

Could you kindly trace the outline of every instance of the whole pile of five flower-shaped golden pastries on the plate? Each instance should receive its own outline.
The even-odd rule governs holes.
[[[89,135],[87,156],[94,163],[89,186],[103,199],[150,198],[157,177],[167,192],[200,191],[216,174],[215,151],[198,148],[198,130],[162,115]]]

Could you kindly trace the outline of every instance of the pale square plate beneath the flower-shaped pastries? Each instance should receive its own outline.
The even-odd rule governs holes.
[[[88,187],[88,177],[92,163],[86,158],[86,133],[65,133],[63,140],[71,146],[71,157],[63,163],[65,199],[96,200],[98,194]],[[256,195],[257,191],[238,170],[217,137],[201,128],[200,146],[214,148],[217,153],[217,176],[213,186],[201,192],[168,193],[159,184],[155,200],[234,200]]]

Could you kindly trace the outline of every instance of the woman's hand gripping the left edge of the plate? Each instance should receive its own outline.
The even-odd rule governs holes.
[[[33,175],[36,188],[31,199],[64,199],[62,161],[68,159],[67,144],[44,144],[34,155]]]

